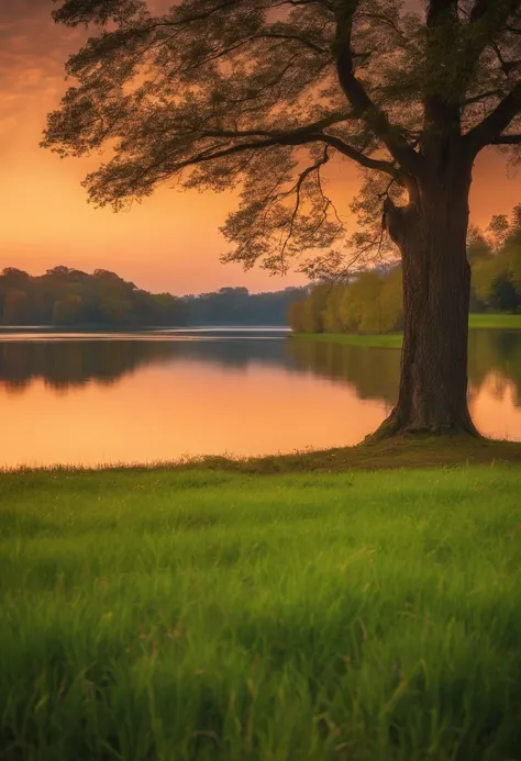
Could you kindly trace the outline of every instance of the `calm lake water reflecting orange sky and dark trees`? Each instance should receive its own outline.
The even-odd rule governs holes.
[[[355,444],[395,401],[399,351],[277,329],[0,335],[0,466],[151,462]],[[473,331],[469,403],[521,440],[521,332]]]

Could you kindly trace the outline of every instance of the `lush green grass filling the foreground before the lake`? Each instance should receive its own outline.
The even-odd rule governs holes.
[[[0,758],[521,759],[521,470],[0,477]]]

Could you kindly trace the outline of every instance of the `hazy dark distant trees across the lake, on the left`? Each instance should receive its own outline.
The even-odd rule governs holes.
[[[0,273],[0,322],[70,327],[286,325],[289,304],[307,293],[307,288],[271,293],[222,288],[175,296],[149,293],[104,269],[88,275],[59,266],[31,276],[8,267]]]

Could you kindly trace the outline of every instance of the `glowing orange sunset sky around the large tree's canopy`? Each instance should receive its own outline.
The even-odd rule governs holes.
[[[112,269],[153,291],[193,293],[223,286],[251,291],[301,284],[299,276],[270,277],[221,265],[226,243],[218,227],[234,206],[228,194],[162,188],[143,205],[114,214],[87,205],[80,180],[85,160],[60,160],[38,147],[46,114],[65,89],[63,64],[84,30],[51,19],[51,0],[0,0],[0,269],[32,273],[55,265]],[[346,208],[356,169],[342,182]],[[340,182],[335,180],[335,184]],[[521,198],[521,176],[508,178],[503,160],[483,155],[475,170],[470,210],[481,225]]]

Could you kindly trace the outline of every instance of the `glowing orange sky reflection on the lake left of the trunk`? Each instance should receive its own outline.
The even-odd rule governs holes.
[[[153,461],[197,454],[256,455],[359,440],[381,419],[378,402],[307,374],[230,370],[180,361],[147,367],[112,387],[63,393],[41,379],[0,390],[4,465]],[[356,415],[345,418],[346,410]],[[29,452],[31,452],[30,456]]]

